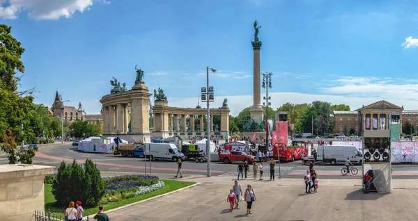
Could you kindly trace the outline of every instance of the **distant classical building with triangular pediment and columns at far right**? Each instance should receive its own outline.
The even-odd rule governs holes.
[[[388,101],[362,106],[355,111],[334,111],[335,133],[349,134],[351,129],[355,133],[364,130],[387,130],[389,123],[398,122],[402,128],[411,124],[417,128],[418,111],[404,111],[403,106],[396,106]],[[403,131],[409,133],[409,131]]]

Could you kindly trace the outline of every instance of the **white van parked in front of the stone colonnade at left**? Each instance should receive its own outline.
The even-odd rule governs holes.
[[[173,161],[184,160],[185,155],[172,143],[150,142],[144,145],[146,158],[151,160]]]

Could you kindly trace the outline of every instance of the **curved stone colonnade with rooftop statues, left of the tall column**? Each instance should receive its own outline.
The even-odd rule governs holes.
[[[154,95],[157,98],[152,109],[154,127],[151,133],[148,108],[150,96],[144,82],[135,83],[132,90],[120,90],[103,96],[100,100],[103,110],[103,136],[120,136],[127,141],[150,142],[150,138],[206,135],[206,129],[203,128],[206,109],[168,106],[169,102],[162,90]],[[220,115],[220,125],[213,125],[214,115]],[[210,109],[210,130],[215,135],[229,132],[229,108],[226,104]]]

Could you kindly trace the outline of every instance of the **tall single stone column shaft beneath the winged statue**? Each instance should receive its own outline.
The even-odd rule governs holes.
[[[261,106],[261,67],[260,49],[261,41],[258,37],[251,42],[253,47],[253,106],[250,109],[251,119],[255,122],[263,121],[263,107]]]

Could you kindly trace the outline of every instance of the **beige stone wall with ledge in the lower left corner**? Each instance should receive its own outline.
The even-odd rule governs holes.
[[[44,178],[54,167],[0,165],[0,220],[33,220],[35,210],[44,210]]]

